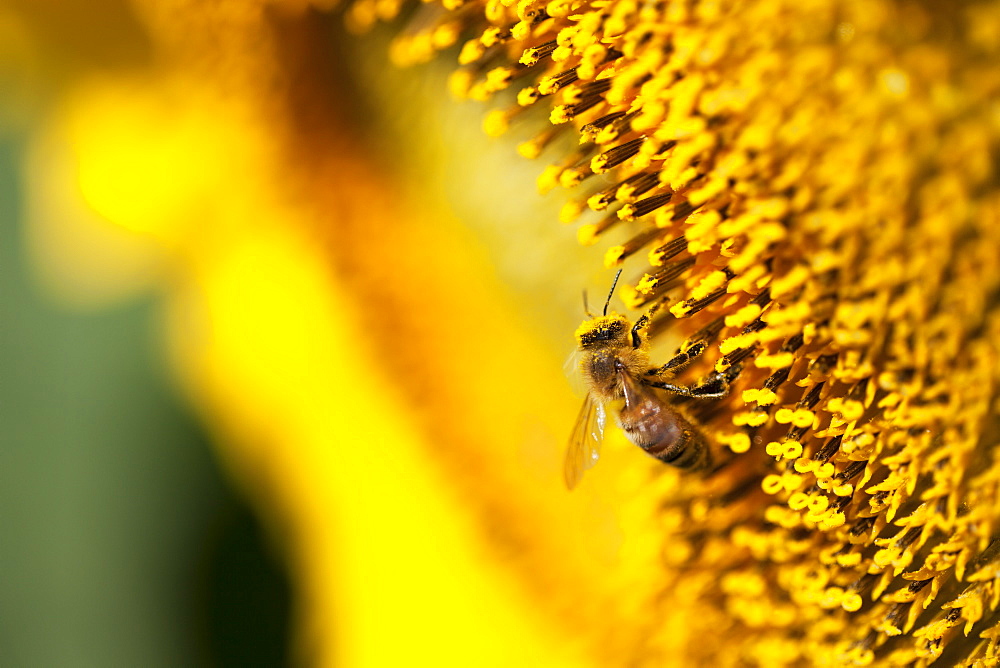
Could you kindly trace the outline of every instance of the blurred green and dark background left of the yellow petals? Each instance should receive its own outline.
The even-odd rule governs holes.
[[[84,312],[33,279],[34,129],[0,131],[0,665],[282,665],[286,574],[171,388],[156,298]]]

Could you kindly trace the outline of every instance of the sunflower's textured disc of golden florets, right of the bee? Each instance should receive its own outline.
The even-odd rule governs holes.
[[[397,58],[472,35],[452,89],[516,92],[491,133],[541,107],[528,157],[577,140],[539,187],[738,379],[726,464],[651,500],[644,665],[995,662],[996,7],[442,7]]]

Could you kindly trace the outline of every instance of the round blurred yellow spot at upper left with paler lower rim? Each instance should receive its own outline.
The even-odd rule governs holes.
[[[42,282],[78,306],[148,289],[170,255],[253,224],[252,206],[220,200],[260,180],[248,168],[268,147],[244,107],[190,77],[81,81],[29,151],[28,245]]]

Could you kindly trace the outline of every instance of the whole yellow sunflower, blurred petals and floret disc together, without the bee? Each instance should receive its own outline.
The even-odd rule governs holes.
[[[304,656],[997,665],[995,3],[299,4],[137,2],[166,64],[63,127],[107,130],[88,203],[168,251],[180,377],[284,539]],[[397,17],[391,46],[334,27]],[[536,196],[510,163],[461,173],[488,155],[429,129],[445,88],[548,161],[552,225],[449,210]],[[147,169],[164,133],[193,169]],[[136,173],[169,215],[123,206]],[[602,265],[654,351],[700,352],[680,380],[728,379],[670,399],[710,473],[613,435],[560,487],[553,341]]]

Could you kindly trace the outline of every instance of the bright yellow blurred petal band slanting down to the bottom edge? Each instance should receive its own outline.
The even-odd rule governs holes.
[[[579,665],[552,644],[551,623],[523,614],[524,593],[373,374],[367,333],[344,318],[351,306],[314,245],[294,227],[236,241],[194,289],[172,310],[174,346],[236,447],[234,468],[275,497],[305,592],[307,655]]]

